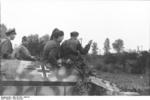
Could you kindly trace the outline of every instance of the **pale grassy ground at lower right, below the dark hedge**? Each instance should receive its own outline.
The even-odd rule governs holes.
[[[142,95],[150,93],[149,78],[146,75],[126,73],[97,72],[99,78],[115,83],[123,91],[140,92]]]

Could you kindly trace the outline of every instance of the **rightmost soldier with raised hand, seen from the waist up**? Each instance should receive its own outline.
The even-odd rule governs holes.
[[[90,40],[85,48],[83,48],[77,39],[79,36],[78,32],[71,32],[70,36],[71,38],[64,41],[61,45],[61,56],[63,58],[72,58],[72,56],[79,56],[80,54],[86,55],[90,49],[92,41]]]

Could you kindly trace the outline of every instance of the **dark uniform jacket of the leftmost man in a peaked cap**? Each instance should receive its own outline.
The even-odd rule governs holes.
[[[10,59],[13,52],[12,43],[8,38],[1,39],[0,42],[0,56],[3,59]]]

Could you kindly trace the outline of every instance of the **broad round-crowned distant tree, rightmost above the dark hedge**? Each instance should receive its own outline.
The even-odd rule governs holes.
[[[112,44],[112,46],[113,46],[114,50],[117,51],[117,53],[121,53],[121,51],[124,48],[123,40],[122,39],[115,40],[115,42]]]

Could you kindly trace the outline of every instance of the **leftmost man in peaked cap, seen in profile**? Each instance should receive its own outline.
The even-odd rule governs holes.
[[[10,59],[13,52],[11,40],[15,39],[16,31],[11,29],[6,32],[6,38],[1,39],[0,43],[0,57],[3,59]]]

